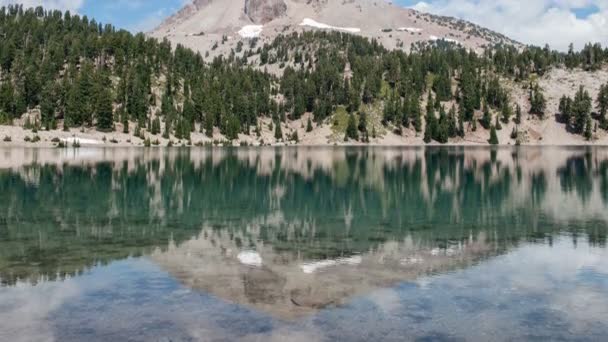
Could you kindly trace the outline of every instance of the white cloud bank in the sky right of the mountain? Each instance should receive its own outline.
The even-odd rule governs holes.
[[[606,0],[436,0],[418,2],[414,9],[463,18],[527,44],[566,50],[570,43],[608,45]],[[598,9],[577,18],[574,9]]]

